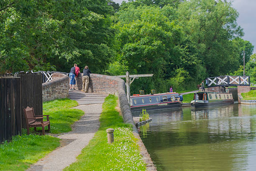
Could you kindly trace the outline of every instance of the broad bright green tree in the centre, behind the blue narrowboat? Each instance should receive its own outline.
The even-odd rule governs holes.
[[[134,93],[139,89],[149,92],[152,88],[166,91],[169,78],[188,73],[187,70],[196,70],[200,64],[193,52],[195,47],[183,40],[182,28],[175,21],[177,15],[173,7],[136,7],[131,3],[117,15],[115,28],[119,30],[117,40],[121,54],[117,67],[124,64],[133,74],[154,73],[153,79],[140,78],[138,85],[133,82]],[[190,78],[189,74],[187,78]]]

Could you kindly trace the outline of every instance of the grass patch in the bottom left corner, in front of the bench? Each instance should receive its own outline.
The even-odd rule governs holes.
[[[52,136],[22,135],[0,145],[0,170],[26,170],[59,146],[59,138]]]

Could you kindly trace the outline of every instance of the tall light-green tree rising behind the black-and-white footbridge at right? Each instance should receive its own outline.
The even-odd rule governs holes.
[[[238,12],[221,0],[190,0],[178,8],[179,24],[197,47],[209,76],[226,74],[239,66],[237,46],[231,40],[241,37]]]

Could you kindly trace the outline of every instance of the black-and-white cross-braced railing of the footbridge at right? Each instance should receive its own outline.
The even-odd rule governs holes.
[[[250,76],[224,75],[206,78],[208,87],[250,86]]]

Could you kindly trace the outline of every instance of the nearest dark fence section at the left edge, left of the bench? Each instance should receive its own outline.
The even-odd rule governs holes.
[[[0,77],[0,143],[21,133],[20,78]]]

